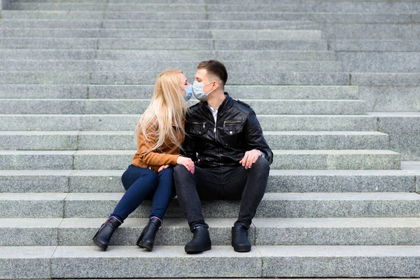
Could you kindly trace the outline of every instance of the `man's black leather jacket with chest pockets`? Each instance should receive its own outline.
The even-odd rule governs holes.
[[[198,167],[239,167],[246,151],[260,150],[268,162],[273,153],[262,135],[253,109],[228,92],[214,123],[207,102],[191,106],[186,116],[186,139],[181,153]]]

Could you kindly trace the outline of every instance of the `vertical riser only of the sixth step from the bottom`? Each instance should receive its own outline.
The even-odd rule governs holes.
[[[272,135],[265,139],[274,150],[385,150],[384,135]],[[136,149],[133,133],[125,135],[1,135],[1,150],[66,151],[66,150],[130,150]]]

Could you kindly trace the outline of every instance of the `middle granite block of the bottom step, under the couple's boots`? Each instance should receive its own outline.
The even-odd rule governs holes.
[[[139,255],[140,254],[140,255]],[[256,277],[261,275],[258,250],[238,254],[231,246],[214,246],[199,255],[188,255],[183,246],[155,246],[153,254],[134,246],[110,247],[106,255],[93,246],[59,246],[52,256],[53,278],[73,277]],[[237,269],[241,265],[241,269]],[[78,269],[74,269],[77,266]],[[162,269],[165,267],[165,269]],[[215,269],[217,267],[217,269]]]

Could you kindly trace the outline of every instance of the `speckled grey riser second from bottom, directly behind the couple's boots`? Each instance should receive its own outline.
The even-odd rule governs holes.
[[[0,246],[92,246],[92,237],[102,222],[95,228],[1,228]],[[233,223],[233,222],[232,222]],[[110,246],[134,246],[147,221],[130,228],[119,228],[113,235]],[[211,225],[210,225],[211,226]],[[254,230],[256,231],[254,233]],[[416,228],[256,228],[248,230],[252,245],[404,245],[420,244]],[[230,228],[210,228],[211,244],[230,246]],[[258,238],[255,240],[255,235]],[[58,238],[57,238],[58,237]],[[187,222],[174,228],[161,228],[155,246],[184,246],[191,239]]]

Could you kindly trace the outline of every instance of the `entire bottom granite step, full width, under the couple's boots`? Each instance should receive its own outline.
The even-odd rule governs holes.
[[[94,246],[3,246],[0,252],[8,256],[0,274],[5,279],[420,275],[419,246],[254,246],[246,254],[213,246],[199,255],[186,254],[183,246],[155,246],[152,254],[137,246],[111,246],[107,253]],[[325,262],[335,265],[325,268]]]

